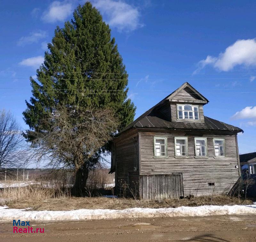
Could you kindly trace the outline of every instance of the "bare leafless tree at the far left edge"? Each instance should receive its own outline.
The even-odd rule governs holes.
[[[10,112],[0,110],[0,173],[23,165],[24,138],[20,125]]]

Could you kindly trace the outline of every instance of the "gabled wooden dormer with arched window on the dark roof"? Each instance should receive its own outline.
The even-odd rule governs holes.
[[[204,122],[203,106],[209,101],[187,82],[172,92],[167,100],[172,122]]]

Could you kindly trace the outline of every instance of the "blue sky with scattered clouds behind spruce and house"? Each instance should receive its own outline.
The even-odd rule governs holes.
[[[83,1],[1,1],[0,108],[27,128],[29,76],[46,44]],[[129,73],[136,117],[188,81],[207,99],[204,114],[238,126],[240,153],[256,151],[254,1],[114,1],[92,4],[109,23]],[[10,88],[10,89],[8,89]]]

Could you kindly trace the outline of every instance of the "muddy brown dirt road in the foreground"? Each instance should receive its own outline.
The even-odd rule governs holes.
[[[0,223],[0,241],[256,241],[256,216],[30,221],[30,227],[44,233],[14,234],[12,222]]]

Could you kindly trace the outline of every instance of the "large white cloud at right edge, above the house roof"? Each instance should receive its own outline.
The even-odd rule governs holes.
[[[220,53],[218,57],[208,55],[206,59],[198,62],[198,68],[194,71],[194,74],[207,65],[221,71],[232,70],[237,65],[256,66],[256,39],[237,40],[234,44],[228,46],[224,53]]]

